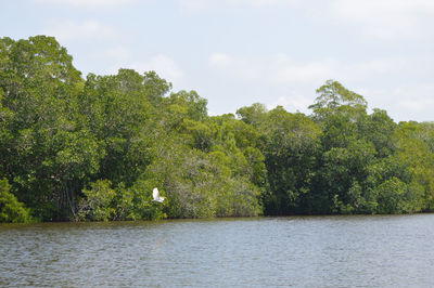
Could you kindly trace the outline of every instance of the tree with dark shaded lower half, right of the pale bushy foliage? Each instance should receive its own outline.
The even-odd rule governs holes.
[[[298,213],[310,193],[310,181],[321,135],[319,127],[302,114],[281,106],[263,117],[260,150],[265,156],[269,193],[263,195],[268,214]]]

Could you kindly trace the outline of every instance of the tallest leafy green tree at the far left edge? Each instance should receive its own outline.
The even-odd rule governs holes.
[[[73,209],[81,187],[67,191],[68,176],[60,179],[49,171],[65,148],[56,140],[81,133],[76,97],[84,81],[72,56],[52,37],[3,38],[0,55],[1,102],[7,112],[1,123],[3,174],[37,215],[59,220],[61,211]]]

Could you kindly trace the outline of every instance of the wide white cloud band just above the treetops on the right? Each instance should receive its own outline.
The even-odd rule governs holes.
[[[315,89],[334,79],[363,95],[369,107],[386,109],[398,120],[429,120],[434,110],[434,86],[426,84],[431,79],[425,77],[432,74],[433,60],[424,54],[345,62],[299,61],[285,54],[252,58],[214,53],[208,61],[218,77],[257,87],[268,108],[282,105],[290,112],[309,114],[307,106],[315,101]],[[298,92],[285,95],[284,89]]]

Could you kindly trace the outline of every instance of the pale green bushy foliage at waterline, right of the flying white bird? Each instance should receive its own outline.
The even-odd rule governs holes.
[[[169,140],[167,140],[169,142]],[[258,188],[231,168],[231,155],[177,146],[149,166],[146,178],[161,183],[169,218],[256,215]]]

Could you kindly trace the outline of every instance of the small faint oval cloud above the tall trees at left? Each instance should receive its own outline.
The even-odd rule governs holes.
[[[120,35],[116,28],[98,21],[52,21],[43,34],[55,36],[61,41],[111,39]]]

